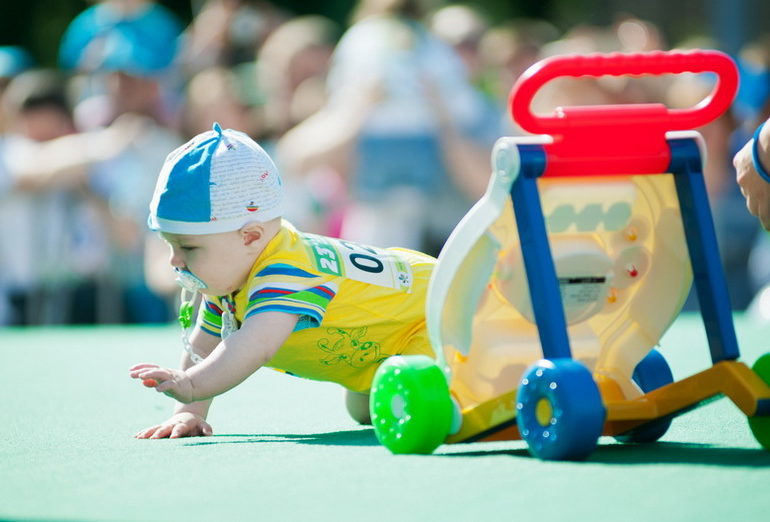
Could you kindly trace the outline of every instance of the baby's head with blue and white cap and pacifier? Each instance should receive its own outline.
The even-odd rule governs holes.
[[[246,282],[280,229],[282,204],[270,156],[246,134],[215,123],[166,158],[148,225],[171,246],[183,286],[226,295]]]

